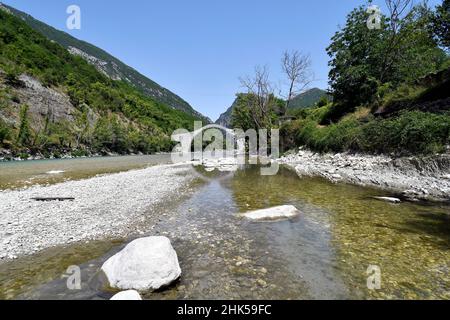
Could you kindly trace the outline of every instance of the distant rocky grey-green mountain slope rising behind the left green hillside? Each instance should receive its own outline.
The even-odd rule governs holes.
[[[195,111],[192,106],[190,106],[189,103],[181,97],[148,79],[106,51],[85,41],[78,40],[71,35],[36,20],[32,16],[15,8],[0,3],[0,7],[1,6],[6,8],[15,16],[21,18],[34,30],[65,47],[70,53],[81,56],[86,61],[94,65],[98,70],[108,75],[111,79],[127,81],[142,93],[158,102],[166,104],[174,109],[189,113],[197,118],[202,118],[205,121],[210,121],[202,114]]]

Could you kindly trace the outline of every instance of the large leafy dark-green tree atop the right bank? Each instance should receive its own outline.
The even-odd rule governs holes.
[[[379,29],[367,28],[369,14],[358,7],[333,36],[327,52],[335,115],[378,101],[379,88],[415,80],[445,61],[444,52],[429,36],[432,11],[425,4],[410,10],[410,4],[392,1]]]

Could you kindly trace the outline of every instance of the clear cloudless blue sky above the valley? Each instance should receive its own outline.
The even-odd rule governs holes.
[[[365,0],[0,0],[90,42],[216,120],[233,102],[239,77],[267,65],[282,85],[285,50],[309,53],[327,88],[330,38]],[[430,5],[440,3],[429,1]],[[81,30],[66,9],[81,8]],[[384,0],[374,0],[384,8]]]

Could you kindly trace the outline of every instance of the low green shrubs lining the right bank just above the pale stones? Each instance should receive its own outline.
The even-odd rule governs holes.
[[[450,144],[450,114],[403,111],[388,119],[351,115],[329,126],[306,118],[286,124],[281,132],[285,149],[307,146],[318,152],[432,154],[444,152]],[[287,132],[295,134],[294,141],[286,142]]]

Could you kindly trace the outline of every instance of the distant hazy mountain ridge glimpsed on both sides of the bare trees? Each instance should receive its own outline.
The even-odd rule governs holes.
[[[299,94],[295,98],[293,98],[290,102],[289,109],[298,109],[298,108],[307,108],[311,107],[317,102],[319,102],[322,97],[326,96],[327,92],[325,90],[319,88],[313,88],[305,91],[304,93]],[[229,128],[231,126],[231,116],[233,114],[233,109],[236,106],[237,98],[234,100],[231,107],[227,109],[224,113],[222,113],[219,119],[216,120],[216,124],[221,125],[223,127]]]

